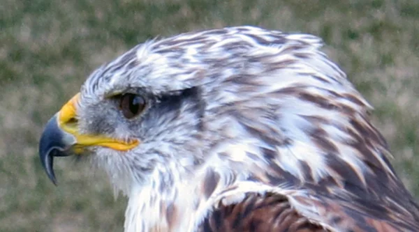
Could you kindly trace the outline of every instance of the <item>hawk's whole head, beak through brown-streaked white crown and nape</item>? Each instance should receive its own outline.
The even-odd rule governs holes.
[[[342,128],[369,105],[319,47],[314,36],[255,27],[138,45],[93,72],[50,119],[43,166],[55,181],[54,156],[89,156],[126,193],[153,175],[170,188],[200,167],[249,177],[274,164],[302,180],[308,165],[320,181],[335,173],[326,154],[350,137]],[[345,162],[362,172],[348,150]]]

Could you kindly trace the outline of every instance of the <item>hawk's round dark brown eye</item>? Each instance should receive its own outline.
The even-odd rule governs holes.
[[[119,107],[125,118],[133,118],[140,114],[145,108],[145,99],[140,95],[125,93],[119,100]]]

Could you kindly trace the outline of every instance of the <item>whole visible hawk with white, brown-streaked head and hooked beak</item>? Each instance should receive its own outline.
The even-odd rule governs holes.
[[[90,157],[124,230],[419,231],[372,107],[321,39],[254,26],[133,47],[53,116],[39,152]]]

